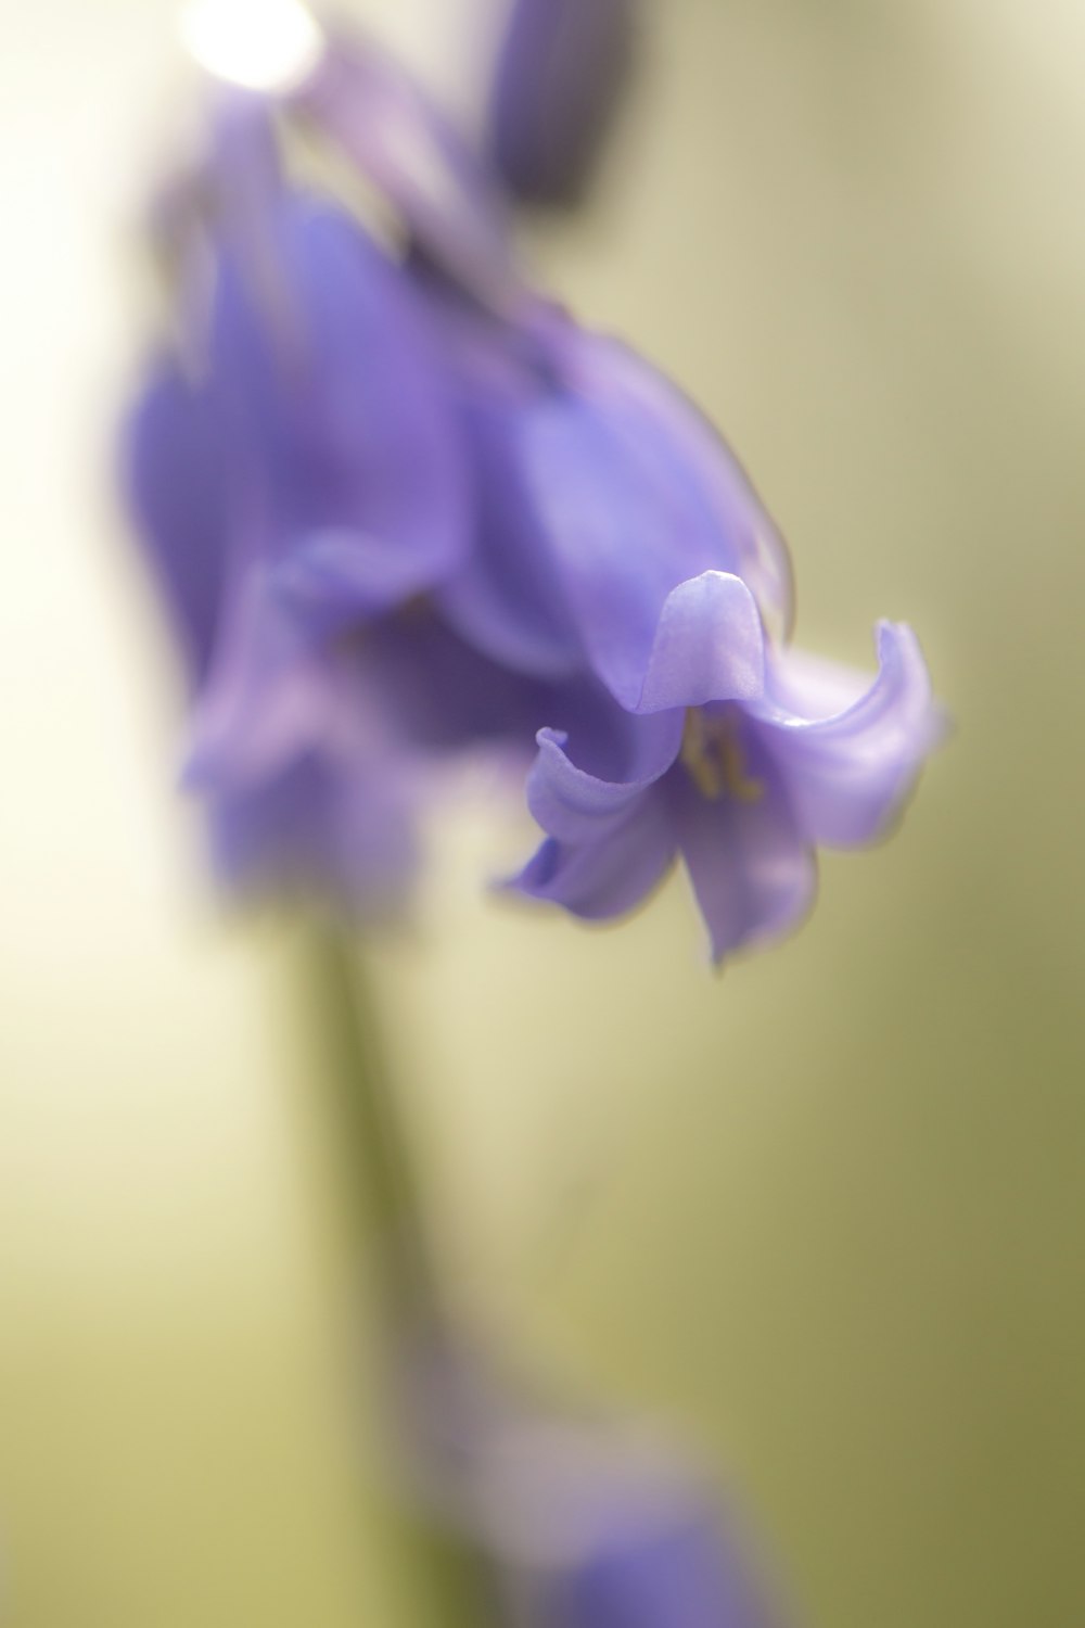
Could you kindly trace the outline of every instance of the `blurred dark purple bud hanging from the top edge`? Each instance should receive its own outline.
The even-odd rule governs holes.
[[[582,200],[628,85],[638,11],[638,0],[512,0],[488,132],[512,197]]]

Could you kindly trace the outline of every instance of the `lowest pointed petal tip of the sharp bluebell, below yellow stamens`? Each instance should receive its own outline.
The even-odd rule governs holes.
[[[795,926],[817,891],[813,853],[771,762],[755,742],[745,755],[761,786],[756,799],[704,798],[678,770],[667,781],[678,850],[717,964]]]

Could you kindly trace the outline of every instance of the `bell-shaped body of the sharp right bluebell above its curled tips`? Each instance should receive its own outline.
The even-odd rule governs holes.
[[[784,542],[678,389],[542,301],[501,326],[426,293],[473,482],[472,549],[439,588],[465,638],[540,677],[590,672],[639,710],[665,705],[665,650],[649,672],[651,645],[691,578],[752,589],[755,643],[758,619],[789,625]],[[678,633],[669,614],[664,645]]]

